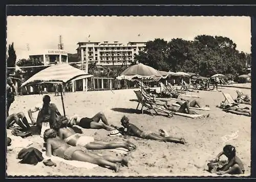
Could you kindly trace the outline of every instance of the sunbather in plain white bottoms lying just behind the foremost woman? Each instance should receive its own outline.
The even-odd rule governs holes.
[[[67,125],[68,119],[66,117],[60,117],[56,120],[53,129],[58,131],[58,137],[69,145],[83,146],[88,150],[125,148],[130,151],[131,148],[135,149],[135,145],[129,141],[124,143],[100,143],[99,141],[94,141],[93,137],[76,133],[72,128],[67,127]]]

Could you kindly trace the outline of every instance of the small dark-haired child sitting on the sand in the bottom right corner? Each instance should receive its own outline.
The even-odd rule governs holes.
[[[244,174],[244,165],[236,155],[236,148],[234,146],[226,145],[223,151],[217,155],[216,162],[220,160],[220,156],[223,154],[228,158],[228,164],[217,168],[217,174]]]

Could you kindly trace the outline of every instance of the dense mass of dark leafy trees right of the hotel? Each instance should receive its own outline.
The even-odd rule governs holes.
[[[157,38],[135,54],[133,64],[143,63],[159,71],[189,72],[201,76],[246,74],[251,54],[239,52],[228,37],[199,35],[193,41]]]

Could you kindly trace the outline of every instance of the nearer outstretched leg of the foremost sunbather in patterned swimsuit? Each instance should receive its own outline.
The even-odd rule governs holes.
[[[90,156],[89,154],[84,153],[82,151],[75,151],[72,155],[72,159],[74,161],[82,161],[82,162],[97,164],[97,165],[102,166],[102,167],[110,166],[111,169],[115,170],[116,172],[118,172],[118,170],[119,170],[119,165],[118,164],[115,164],[115,163],[109,162],[107,160],[104,160],[100,156],[97,157],[97,158],[94,158],[94,157]]]

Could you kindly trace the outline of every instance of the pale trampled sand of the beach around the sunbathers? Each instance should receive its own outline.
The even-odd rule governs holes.
[[[220,87],[220,90],[229,93],[233,98],[236,89],[231,87]],[[63,96],[66,115],[74,114],[92,117],[97,112],[105,113],[110,124],[120,126],[120,119],[123,115],[130,118],[130,122],[145,131],[158,132],[158,129],[165,129],[174,137],[184,137],[187,144],[164,143],[151,140],[135,140],[134,138],[123,139],[121,137],[108,137],[109,131],[100,129],[83,129],[83,133],[93,136],[96,140],[105,142],[122,142],[129,140],[137,146],[136,151],[127,153],[129,167],[120,167],[118,173],[112,170],[96,167],[93,169],[76,168],[66,163],[56,162],[56,167],[48,167],[38,163],[36,166],[19,164],[16,159],[21,148],[13,148],[7,152],[7,175],[40,175],[40,176],[212,176],[204,171],[207,160],[214,158],[222,151],[225,144],[232,144],[237,149],[237,155],[241,158],[245,167],[245,176],[250,175],[250,137],[251,118],[246,116],[226,113],[217,108],[216,105],[224,101],[222,92],[199,91],[199,93],[187,93],[200,96],[198,100],[202,105],[208,104],[209,111],[197,110],[199,113],[210,113],[209,118],[190,119],[181,116],[168,118],[165,116],[151,116],[147,112],[143,115],[136,110],[137,102],[134,89],[76,92],[66,93]],[[137,90],[137,89],[136,89]],[[240,89],[245,94],[251,94],[250,89]],[[50,94],[51,100],[63,113],[60,96]],[[188,99],[193,99],[186,97]],[[9,113],[23,111],[28,117],[27,110],[35,104],[41,103],[41,95],[18,96],[12,103]],[[173,101],[173,103],[175,100]],[[172,103],[172,102],[169,102]],[[246,105],[248,106],[248,105]],[[250,107],[250,106],[249,106]],[[141,106],[139,106],[139,109]],[[34,117],[36,117],[34,115]],[[238,133],[238,137],[227,142],[222,140],[224,135]],[[8,136],[11,129],[7,130]],[[33,144],[32,147],[41,151],[42,138],[38,133],[26,138]],[[99,151],[101,154],[118,155],[111,151]],[[222,156],[223,160],[226,160]]]

